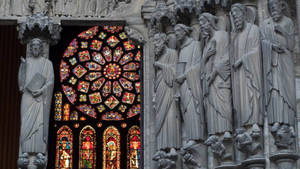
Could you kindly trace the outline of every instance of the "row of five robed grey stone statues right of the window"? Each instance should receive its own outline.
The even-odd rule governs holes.
[[[218,18],[201,13],[200,40],[191,27],[176,24],[176,49],[170,37],[156,33],[154,109],[161,168],[174,168],[180,152],[188,168],[206,168],[197,159],[209,147],[218,165],[263,156],[265,119],[277,150],[293,150],[296,90],[293,66],[295,29],[280,0],[269,0],[270,18],[261,26],[247,22],[247,7],[231,6],[231,31]],[[236,148],[233,147],[235,142]],[[201,148],[202,147],[202,148]],[[199,149],[199,148],[198,148]]]

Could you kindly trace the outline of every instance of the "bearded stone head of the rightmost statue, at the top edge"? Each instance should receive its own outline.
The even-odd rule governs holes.
[[[268,9],[271,17],[275,22],[279,22],[282,18],[283,4],[280,0],[269,0]]]

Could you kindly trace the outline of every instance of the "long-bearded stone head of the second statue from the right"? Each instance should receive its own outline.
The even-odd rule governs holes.
[[[235,28],[239,31],[243,30],[245,24],[246,7],[243,4],[235,3],[231,6],[232,21]]]

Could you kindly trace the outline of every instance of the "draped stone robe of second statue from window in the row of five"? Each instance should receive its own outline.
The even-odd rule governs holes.
[[[185,63],[186,80],[180,86],[180,109],[188,140],[205,139],[200,60],[200,42],[187,39],[180,47],[179,62]]]

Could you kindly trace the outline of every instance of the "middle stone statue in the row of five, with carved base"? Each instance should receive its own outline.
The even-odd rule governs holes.
[[[232,160],[232,151],[223,141],[232,143],[231,78],[229,35],[217,28],[217,17],[202,13],[199,17],[202,41],[202,86],[209,138],[205,141],[220,162]]]

